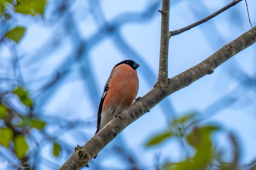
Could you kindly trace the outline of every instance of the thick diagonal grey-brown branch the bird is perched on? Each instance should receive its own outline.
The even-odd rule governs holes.
[[[254,27],[256,29],[256,26]],[[70,158],[60,167],[59,170],[80,170],[102,150],[109,142],[111,142],[117,134],[135,120],[139,119],[143,114],[147,113],[151,108],[161,102],[170,94],[190,85],[192,82],[212,74],[213,70],[227,61],[240,51],[253,45],[256,42],[256,32],[253,29],[242,34],[236,40],[224,45],[217,52],[205,59],[203,62],[192,68],[178,74],[169,79],[166,87],[153,88],[143,98],[135,102],[129,108],[122,111],[120,117],[111,120],[102,128],[92,139],[90,139],[83,147],[76,148],[76,151]]]

